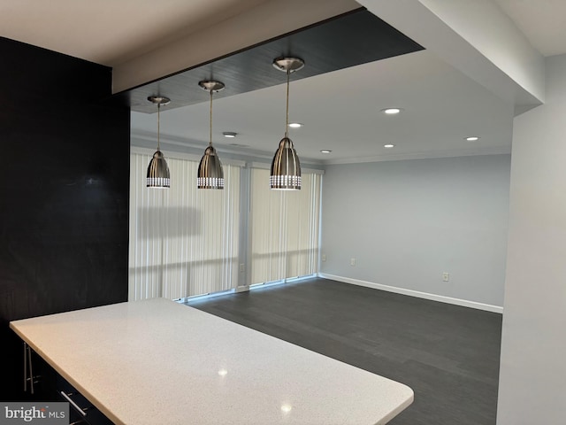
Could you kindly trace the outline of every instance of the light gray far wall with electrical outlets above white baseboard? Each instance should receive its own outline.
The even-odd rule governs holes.
[[[321,273],[502,306],[509,167],[509,155],[327,166]]]

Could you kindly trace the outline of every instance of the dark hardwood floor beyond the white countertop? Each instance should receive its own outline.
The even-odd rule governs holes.
[[[495,423],[501,314],[319,278],[187,305],[409,385],[391,425]]]

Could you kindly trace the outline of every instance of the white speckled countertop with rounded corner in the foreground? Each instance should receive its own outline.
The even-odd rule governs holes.
[[[413,391],[164,298],[10,327],[116,424],[370,425]]]

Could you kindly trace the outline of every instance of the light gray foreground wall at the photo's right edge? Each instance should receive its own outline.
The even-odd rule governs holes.
[[[516,117],[498,425],[566,423],[566,55]]]

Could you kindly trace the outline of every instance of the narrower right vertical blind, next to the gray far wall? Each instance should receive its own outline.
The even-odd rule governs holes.
[[[251,174],[251,284],[317,273],[321,175],[301,190],[272,190],[269,170]]]

